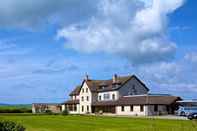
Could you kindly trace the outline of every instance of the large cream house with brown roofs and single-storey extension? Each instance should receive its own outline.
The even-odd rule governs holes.
[[[110,80],[92,80],[88,76],[70,93],[62,110],[71,114],[112,113],[117,115],[171,114],[179,97],[148,94],[149,89],[135,75]]]

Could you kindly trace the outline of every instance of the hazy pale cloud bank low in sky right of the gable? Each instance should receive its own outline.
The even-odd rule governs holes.
[[[174,62],[160,62],[136,67],[137,73],[151,85],[153,92],[170,93],[186,98],[196,97],[197,69],[194,53]],[[189,61],[188,61],[189,60]]]

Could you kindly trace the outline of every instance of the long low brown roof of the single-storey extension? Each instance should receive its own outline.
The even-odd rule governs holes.
[[[117,101],[102,101],[95,102],[94,106],[104,106],[104,105],[171,105],[177,100],[180,100],[177,96],[126,96],[121,97]]]

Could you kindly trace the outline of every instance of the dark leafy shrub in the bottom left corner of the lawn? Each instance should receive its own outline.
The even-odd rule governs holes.
[[[25,131],[25,128],[11,121],[0,121],[0,131]]]

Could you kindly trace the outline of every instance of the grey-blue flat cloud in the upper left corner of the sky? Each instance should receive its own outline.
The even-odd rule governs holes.
[[[87,19],[90,12],[95,12],[92,0],[6,0],[0,2],[0,27],[70,24]]]

